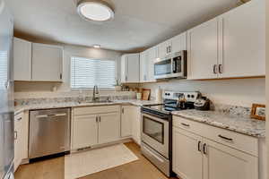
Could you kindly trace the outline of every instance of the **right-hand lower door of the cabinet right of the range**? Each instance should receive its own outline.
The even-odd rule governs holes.
[[[204,179],[258,178],[258,158],[217,142],[204,140]]]

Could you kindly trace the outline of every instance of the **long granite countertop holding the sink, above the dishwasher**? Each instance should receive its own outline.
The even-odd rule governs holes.
[[[38,109],[48,109],[48,108],[62,108],[62,107],[99,107],[99,106],[111,106],[111,105],[134,105],[137,107],[143,107],[145,105],[158,105],[156,101],[153,100],[137,100],[137,99],[123,99],[123,100],[113,100],[112,102],[104,103],[92,103],[92,102],[56,102],[56,103],[40,103],[33,105],[17,106],[14,108],[14,115],[18,115],[23,111],[27,110],[38,110]]]

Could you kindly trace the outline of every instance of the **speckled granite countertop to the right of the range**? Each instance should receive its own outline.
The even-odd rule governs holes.
[[[265,137],[265,121],[251,119],[247,116],[230,115],[215,111],[198,111],[195,109],[175,111],[172,114],[253,137]]]

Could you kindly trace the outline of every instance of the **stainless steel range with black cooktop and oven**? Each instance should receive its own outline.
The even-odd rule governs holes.
[[[171,111],[194,108],[199,92],[164,91],[163,105],[142,107],[143,155],[167,176],[172,175]]]

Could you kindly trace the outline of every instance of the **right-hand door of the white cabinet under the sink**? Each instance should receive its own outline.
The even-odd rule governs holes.
[[[99,117],[99,143],[117,141],[120,136],[120,119],[118,113],[101,114]]]

